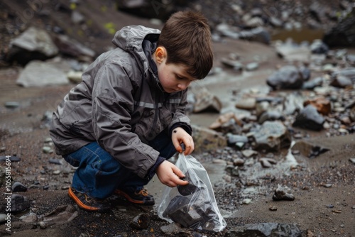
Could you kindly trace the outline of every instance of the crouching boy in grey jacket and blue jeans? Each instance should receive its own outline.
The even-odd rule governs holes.
[[[186,185],[168,161],[195,149],[185,115],[187,87],[212,68],[211,33],[200,13],[174,13],[160,31],[128,26],[112,40],[53,114],[58,155],[77,167],[69,196],[87,211],[107,211],[107,197],[153,205],[143,186],[155,175]]]

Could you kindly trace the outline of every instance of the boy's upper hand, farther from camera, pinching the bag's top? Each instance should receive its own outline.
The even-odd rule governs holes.
[[[182,147],[180,145],[181,143],[185,144],[184,155],[190,155],[192,151],[195,150],[194,140],[192,139],[192,136],[190,136],[190,134],[185,131],[184,128],[175,128],[171,135],[171,140],[173,141],[175,149],[178,151],[178,153],[182,153]]]

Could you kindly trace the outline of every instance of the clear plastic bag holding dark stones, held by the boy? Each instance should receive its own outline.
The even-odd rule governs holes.
[[[219,212],[207,171],[191,155],[182,153],[175,165],[185,174],[183,180],[189,184],[165,188],[158,216],[185,228],[222,231],[226,221]]]

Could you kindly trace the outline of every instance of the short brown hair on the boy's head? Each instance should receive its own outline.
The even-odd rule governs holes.
[[[167,63],[187,66],[187,73],[191,77],[203,79],[212,68],[211,31],[202,13],[173,13],[163,26],[158,46],[167,50]]]

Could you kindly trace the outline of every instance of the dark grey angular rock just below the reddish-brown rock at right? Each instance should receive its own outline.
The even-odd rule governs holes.
[[[308,104],[293,122],[293,126],[320,131],[323,128],[324,118],[318,113],[315,106]]]

